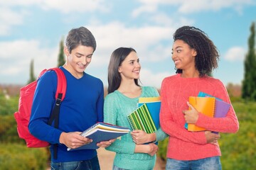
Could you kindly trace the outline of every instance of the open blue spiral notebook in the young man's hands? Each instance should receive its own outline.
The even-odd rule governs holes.
[[[97,143],[107,140],[112,140],[129,132],[129,128],[122,126],[112,125],[110,123],[96,123],[87,130],[83,131],[80,135],[92,139],[92,142],[87,145],[82,145],[76,149],[68,148],[68,151],[78,149],[97,149]]]

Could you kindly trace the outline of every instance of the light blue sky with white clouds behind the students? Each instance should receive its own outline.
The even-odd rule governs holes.
[[[220,52],[213,77],[241,84],[254,0],[0,0],[0,84],[26,84],[34,60],[36,76],[55,67],[59,42],[72,28],[85,26],[97,50],[85,72],[107,86],[107,64],[117,47],[134,47],[144,86],[160,88],[175,74],[172,35],[181,26],[205,31]]]

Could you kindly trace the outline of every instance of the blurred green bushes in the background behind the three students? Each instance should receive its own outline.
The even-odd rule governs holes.
[[[230,95],[232,96],[232,95]],[[256,169],[256,102],[230,97],[240,123],[235,134],[221,133],[218,141],[223,169]],[[18,111],[18,95],[6,98],[0,91],[0,167],[1,169],[47,169],[48,148],[27,148],[18,137],[14,112]],[[166,161],[168,139],[159,142],[158,157]]]

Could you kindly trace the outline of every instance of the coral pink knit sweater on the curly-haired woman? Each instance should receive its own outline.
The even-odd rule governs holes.
[[[167,157],[178,160],[196,160],[220,156],[220,147],[206,143],[205,132],[188,132],[184,128],[182,113],[187,110],[189,96],[198,96],[198,92],[221,98],[230,103],[228,92],[223,83],[212,77],[182,78],[181,74],[166,77],[161,84],[161,128],[169,135]],[[237,132],[238,118],[233,106],[225,118],[210,118],[199,113],[196,125],[215,132]]]

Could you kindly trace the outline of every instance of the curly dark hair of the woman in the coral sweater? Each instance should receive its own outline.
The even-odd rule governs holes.
[[[203,77],[210,74],[213,69],[218,67],[219,53],[213,41],[208,35],[193,26],[183,26],[178,28],[174,33],[174,41],[183,40],[191,48],[196,50],[196,69],[199,76]],[[182,69],[177,69],[176,73],[182,73]]]

